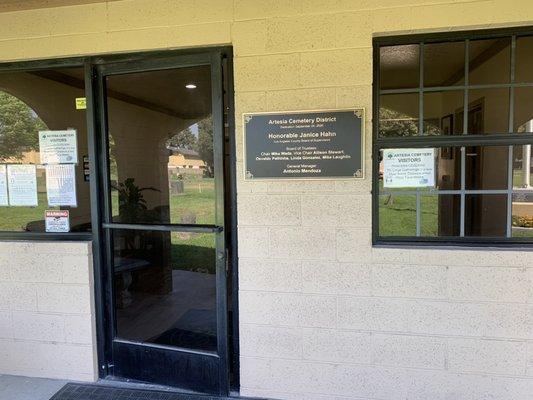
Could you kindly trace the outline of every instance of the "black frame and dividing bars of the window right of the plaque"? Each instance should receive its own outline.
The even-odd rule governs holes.
[[[400,245],[405,246],[408,243],[418,246],[527,246],[533,243],[533,238],[512,237],[512,148],[515,145],[533,144],[533,133],[513,133],[514,131],[514,89],[517,87],[532,87],[532,82],[515,82],[515,60],[516,60],[516,39],[521,36],[533,36],[533,27],[519,27],[519,28],[499,28],[499,29],[480,29],[470,31],[457,32],[439,32],[430,34],[405,34],[394,36],[380,36],[373,38],[373,88],[372,88],[372,244],[373,245]],[[510,47],[510,77],[509,83],[505,84],[476,84],[469,85],[469,41],[479,39],[497,39],[509,37],[511,39]],[[424,46],[423,44],[442,43],[442,42],[465,42],[465,77],[462,85],[450,86],[431,86],[424,87]],[[418,44],[419,48],[419,74],[420,79],[418,83],[419,94],[419,120],[418,120],[418,135],[406,137],[380,137],[379,136],[379,110],[380,110],[380,96],[381,94],[390,93],[416,93],[416,87],[410,89],[381,89],[380,88],[380,48],[385,46],[397,46],[407,44]],[[423,94],[430,92],[438,92],[444,90],[463,90],[463,115],[468,115],[469,89],[488,89],[488,88],[507,88],[509,89],[509,126],[508,133],[501,134],[477,134],[477,135],[449,135],[449,136],[425,136],[423,132]],[[463,120],[463,126],[467,125],[467,118]],[[511,166],[508,171],[508,182],[510,180],[511,186],[506,189],[508,196],[507,204],[507,236],[506,237],[472,237],[464,236],[464,200],[461,206],[461,236],[452,237],[428,237],[428,236],[380,236],[379,234],[379,155],[380,151],[385,148],[437,148],[437,147],[451,147],[451,146],[507,146],[510,149],[508,163]],[[464,169],[464,168],[463,168]],[[461,197],[466,196],[465,189],[461,188]],[[466,191],[468,192],[468,191]],[[438,195],[438,191],[434,194]]]

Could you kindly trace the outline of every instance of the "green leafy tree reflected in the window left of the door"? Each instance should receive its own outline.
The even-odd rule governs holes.
[[[25,152],[39,150],[38,132],[46,129],[28,105],[0,91],[0,159],[21,159]]]

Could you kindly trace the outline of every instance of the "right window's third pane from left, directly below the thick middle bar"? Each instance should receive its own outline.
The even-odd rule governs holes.
[[[468,146],[465,150],[467,190],[506,190],[508,146]]]

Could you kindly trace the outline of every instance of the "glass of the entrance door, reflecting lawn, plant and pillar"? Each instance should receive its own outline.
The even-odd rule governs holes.
[[[210,77],[209,66],[107,77],[113,222],[215,223]],[[216,235],[145,229],[110,229],[118,338],[215,351]]]

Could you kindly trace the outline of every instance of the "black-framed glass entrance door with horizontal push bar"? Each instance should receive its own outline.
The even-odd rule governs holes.
[[[220,58],[98,67],[113,376],[227,394]]]

